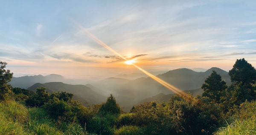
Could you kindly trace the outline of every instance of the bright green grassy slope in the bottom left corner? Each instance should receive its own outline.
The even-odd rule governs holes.
[[[85,135],[77,124],[56,126],[44,109],[15,101],[0,103],[0,135]]]

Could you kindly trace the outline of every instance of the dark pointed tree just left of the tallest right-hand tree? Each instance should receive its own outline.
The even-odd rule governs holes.
[[[224,91],[227,89],[226,82],[221,79],[221,75],[218,75],[217,72],[213,70],[212,74],[206,78],[204,82],[201,87],[204,89],[202,95],[220,103],[221,96],[224,95]]]

